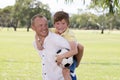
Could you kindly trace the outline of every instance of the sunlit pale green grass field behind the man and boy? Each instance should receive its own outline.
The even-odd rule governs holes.
[[[85,47],[78,80],[120,80],[120,31],[73,30]],[[26,29],[0,30],[0,80],[42,80],[41,59]]]

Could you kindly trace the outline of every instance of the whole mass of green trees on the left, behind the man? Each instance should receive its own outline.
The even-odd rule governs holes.
[[[8,6],[2,10],[0,13],[1,26],[12,26],[16,31],[17,27],[30,28],[30,19],[35,14],[43,14],[48,20],[51,19],[51,13],[49,11],[49,6],[44,5],[37,0],[16,0],[14,6]]]

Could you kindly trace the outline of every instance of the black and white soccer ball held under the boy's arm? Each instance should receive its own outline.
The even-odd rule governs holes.
[[[66,52],[68,52],[69,51],[69,49],[66,49],[66,48],[64,48],[64,49],[60,49],[60,50],[58,50],[57,51],[57,54],[58,55],[60,55],[60,54],[64,54],[64,53],[66,53]],[[73,57],[68,57],[68,58],[64,58],[63,60],[62,60],[62,63],[61,63],[61,67],[70,67],[71,65],[72,65],[72,63],[73,63]]]

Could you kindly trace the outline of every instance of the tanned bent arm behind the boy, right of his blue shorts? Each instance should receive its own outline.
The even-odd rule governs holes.
[[[79,66],[80,61],[81,61],[82,56],[83,56],[83,52],[84,52],[84,47],[83,47],[83,45],[81,45],[81,44],[78,43],[77,48],[78,48],[78,54],[75,55],[75,57],[76,57],[76,59],[77,59],[77,66],[76,66],[76,67]]]

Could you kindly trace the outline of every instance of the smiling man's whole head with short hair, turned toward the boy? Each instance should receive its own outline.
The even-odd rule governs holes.
[[[33,16],[31,26],[39,37],[46,37],[48,35],[48,22],[46,17],[40,14]]]

